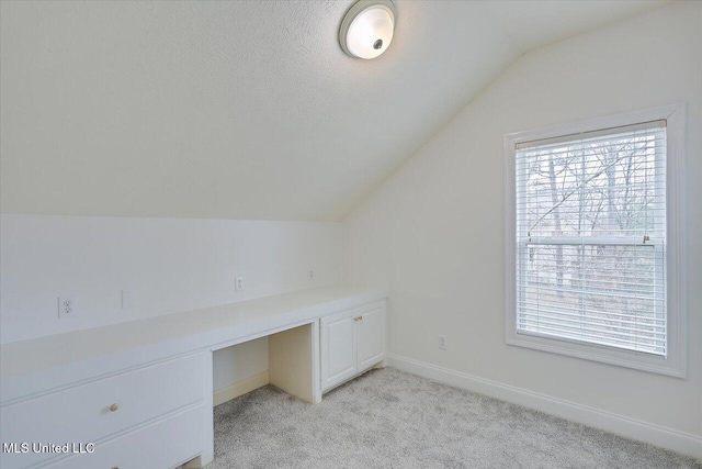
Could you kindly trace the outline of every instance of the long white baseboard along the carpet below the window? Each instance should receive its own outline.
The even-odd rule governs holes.
[[[702,437],[388,354],[390,367],[702,459]]]

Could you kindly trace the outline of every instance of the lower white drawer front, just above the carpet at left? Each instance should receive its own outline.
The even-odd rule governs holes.
[[[90,454],[61,459],[46,469],[170,469],[197,456],[203,448],[203,406],[110,439]]]

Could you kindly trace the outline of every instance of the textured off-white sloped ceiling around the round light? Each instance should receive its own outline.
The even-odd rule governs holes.
[[[660,1],[2,2],[2,212],[341,220],[525,51]]]

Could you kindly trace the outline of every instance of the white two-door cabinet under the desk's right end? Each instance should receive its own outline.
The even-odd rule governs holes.
[[[320,320],[322,391],[383,361],[385,316],[381,301]]]

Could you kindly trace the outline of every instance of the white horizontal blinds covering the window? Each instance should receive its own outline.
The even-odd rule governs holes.
[[[666,356],[666,122],[516,146],[517,332]]]

